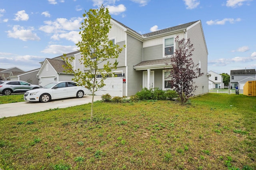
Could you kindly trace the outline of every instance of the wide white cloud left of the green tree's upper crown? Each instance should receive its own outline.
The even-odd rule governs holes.
[[[78,30],[83,18],[57,18],[55,21],[44,21],[46,25],[41,26],[39,30],[46,33],[66,33],[66,31]]]

